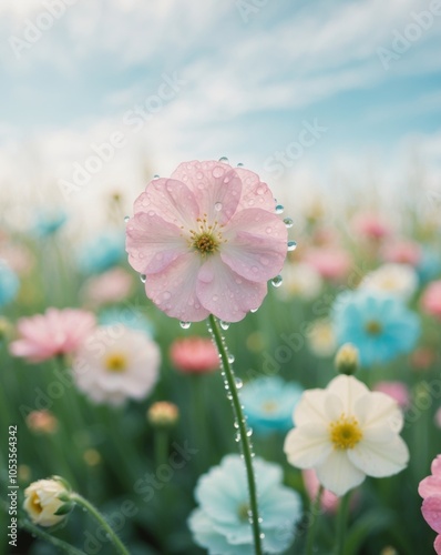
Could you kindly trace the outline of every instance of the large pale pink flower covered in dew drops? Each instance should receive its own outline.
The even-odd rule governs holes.
[[[168,316],[237,322],[258,309],[279,273],[287,230],[259,178],[223,162],[182,163],[148,183],[127,223],[132,266]]]

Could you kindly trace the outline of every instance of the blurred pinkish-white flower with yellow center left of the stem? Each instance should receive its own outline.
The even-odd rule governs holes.
[[[122,404],[144,398],[157,380],[161,354],[145,333],[122,324],[101,326],[73,363],[79,390],[96,403]]]

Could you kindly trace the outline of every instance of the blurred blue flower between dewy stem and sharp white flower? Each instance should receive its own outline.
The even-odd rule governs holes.
[[[244,385],[242,401],[248,424],[256,433],[287,432],[293,427],[293,411],[304,390],[281,377],[259,377]]]

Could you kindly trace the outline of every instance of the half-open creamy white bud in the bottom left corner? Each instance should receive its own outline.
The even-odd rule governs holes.
[[[58,476],[33,482],[24,490],[23,508],[34,524],[53,526],[73,508],[69,484]]]

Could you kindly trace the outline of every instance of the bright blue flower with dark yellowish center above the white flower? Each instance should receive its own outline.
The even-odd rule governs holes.
[[[420,335],[420,321],[399,299],[369,291],[341,293],[332,307],[339,345],[353,343],[361,366],[388,362],[411,351]]]

